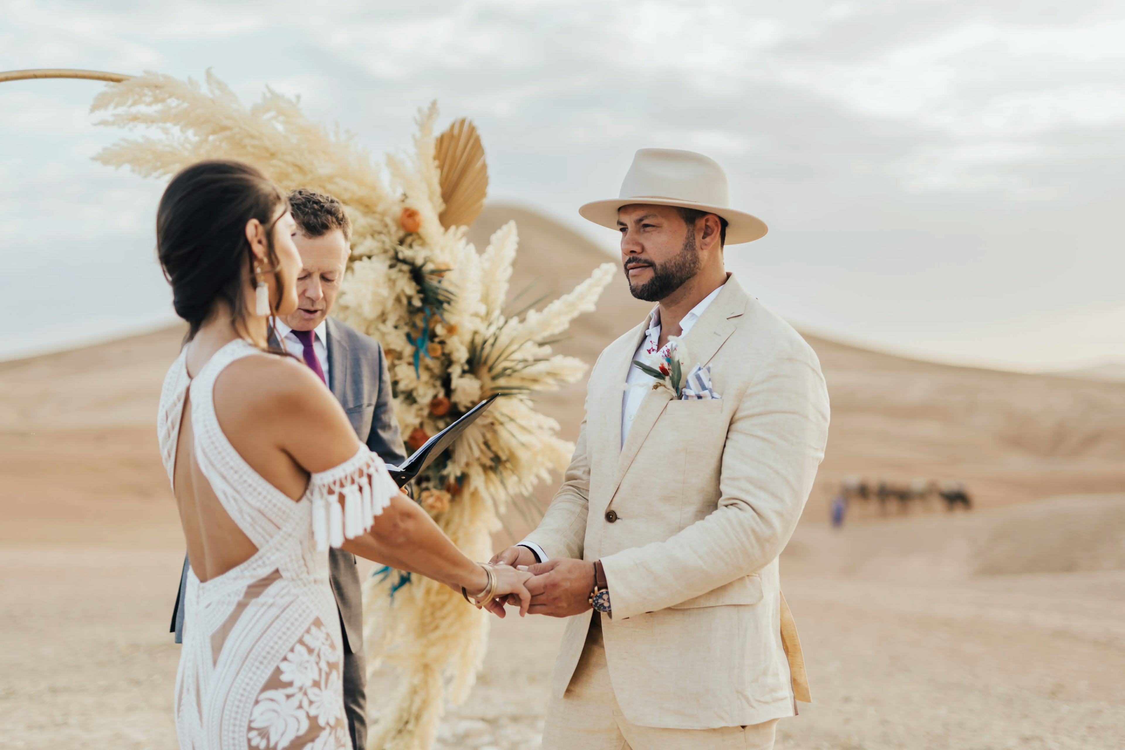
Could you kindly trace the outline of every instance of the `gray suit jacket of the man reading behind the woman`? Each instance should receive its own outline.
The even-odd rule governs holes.
[[[390,377],[382,346],[335,318],[327,319],[328,388],[351,422],[356,435],[388,463],[402,463],[406,448],[398,434],[398,423],[390,406]],[[349,653],[363,647],[363,608],[356,555],[331,550],[328,569],[332,591],[336,595],[340,622],[343,626],[344,650]],[[183,558],[180,591],[172,611],[171,632],[176,642],[183,639],[183,589],[187,586],[188,559]]]

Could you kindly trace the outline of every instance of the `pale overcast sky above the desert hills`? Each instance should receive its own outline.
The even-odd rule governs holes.
[[[96,6],[96,8],[94,8]],[[490,198],[576,208],[701,151],[770,234],[728,266],[803,329],[1018,369],[1125,361],[1125,3],[0,0],[0,70],[207,67],[376,153],[482,129]],[[0,84],[0,359],[171,316],[162,184],[90,156],[101,84]]]

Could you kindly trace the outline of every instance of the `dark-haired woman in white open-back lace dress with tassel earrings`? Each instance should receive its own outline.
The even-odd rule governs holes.
[[[297,305],[295,232],[285,193],[236,162],[187,168],[158,210],[158,254],[190,326],[159,415],[191,561],[181,748],[351,748],[330,545],[480,603],[512,594],[521,615],[530,602],[530,573],[461,554],[357,440],[324,383],[268,352],[269,316]]]

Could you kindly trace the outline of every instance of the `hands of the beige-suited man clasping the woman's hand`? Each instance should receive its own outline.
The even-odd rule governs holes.
[[[512,566],[532,575],[524,586],[531,594],[528,612],[550,617],[569,617],[590,609],[590,594],[594,590],[594,563],[572,558],[557,558],[536,562],[534,553],[525,546],[510,546],[489,560],[493,564]],[[486,609],[503,617],[510,597],[502,596],[486,605]],[[519,599],[511,602],[518,604]]]

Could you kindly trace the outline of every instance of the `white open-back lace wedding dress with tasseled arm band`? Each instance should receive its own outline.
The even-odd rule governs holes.
[[[231,342],[192,379],[181,353],[161,394],[158,432],[169,480],[174,482],[190,389],[196,462],[258,546],[210,580],[188,573],[177,734],[180,747],[191,750],[350,749],[327,549],[370,528],[397,486],[367,446],[313,475],[298,501],[251,469],[223,434],[212,391],[226,365],[253,355],[268,356],[246,342]]]

